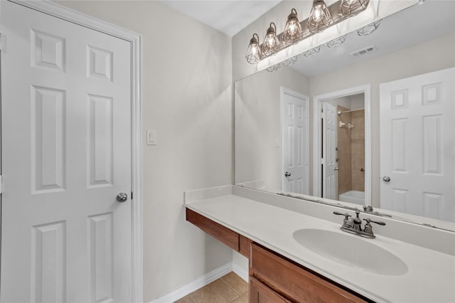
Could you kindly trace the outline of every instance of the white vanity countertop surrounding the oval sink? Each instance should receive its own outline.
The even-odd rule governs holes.
[[[199,201],[186,199],[185,206],[376,302],[455,302],[454,255],[382,235],[361,238],[392,252],[408,267],[404,275],[378,275],[321,257],[293,238],[294,231],[303,228],[343,233],[343,218],[333,223],[233,194]]]

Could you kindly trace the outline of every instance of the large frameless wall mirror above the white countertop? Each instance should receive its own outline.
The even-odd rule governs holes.
[[[235,184],[455,230],[454,15],[424,1],[237,81]]]

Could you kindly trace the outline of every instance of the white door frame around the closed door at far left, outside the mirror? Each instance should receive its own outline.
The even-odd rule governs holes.
[[[142,238],[142,136],[141,136],[141,40],[139,33],[126,28],[69,9],[53,1],[9,0],[44,14],[61,18],[86,28],[128,41],[131,45],[132,67],[132,302],[143,302],[144,296],[144,260]],[[1,9],[1,5],[0,5]],[[3,37],[1,37],[3,41]],[[2,43],[3,44],[3,43]],[[1,136],[1,134],[0,134]],[[1,137],[0,137],[1,139]],[[1,192],[1,191],[0,191]],[[0,219],[1,220],[1,219]],[[1,221],[0,221],[1,223]]]

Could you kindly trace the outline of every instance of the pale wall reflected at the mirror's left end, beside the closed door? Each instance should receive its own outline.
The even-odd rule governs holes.
[[[235,83],[236,184],[264,181],[267,189],[281,189],[281,86],[309,96],[309,78],[286,67]]]

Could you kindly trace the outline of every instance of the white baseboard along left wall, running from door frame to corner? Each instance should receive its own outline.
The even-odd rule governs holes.
[[[205,285],[208,285],[210,282],[213,282],[220,277],[223,277],[224,275],[228,274],[233,270],[232,268],[232,262],[229,262],[228,264],[225,264],[221,267],[218,267],[215,270],[212,270],[211,272],[208,272],[207,274],[203,275],[202,277],[199,277],[198,279],[194,280],[193,282],[188,283],[187,285],[183,285],[182,287],[178,287],[177,289],[174,289],[171,292],[168,292],[167,294],[164,294],[163,296],[154,299],[150,303],[171,303],[171,302],[176,302],[178,299],[181,299],[185,297],[187,294],[191,294],[191,292],[194,292],[197,289],[200,289],[200,287],[204,287]],[[237,274],[238,275],[238,274]]]

